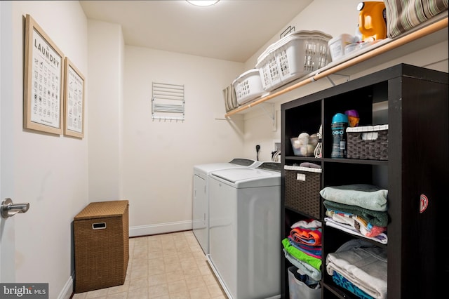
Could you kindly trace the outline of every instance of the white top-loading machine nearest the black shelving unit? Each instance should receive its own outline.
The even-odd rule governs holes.
[[[213,171],[208,263],[229,298],[280,298],[281,164]]]

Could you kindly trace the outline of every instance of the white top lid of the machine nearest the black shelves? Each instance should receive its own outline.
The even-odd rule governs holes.
[[[281,173],[276,171],[264,171],[257,168],[232,168],[213,171],[210,174],[227,185],[238,188],[280,186]]]

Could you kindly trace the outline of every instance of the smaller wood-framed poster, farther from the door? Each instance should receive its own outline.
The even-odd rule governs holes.
[[[84,76],[69,58],[64,73],[64,135],[84,137]]]

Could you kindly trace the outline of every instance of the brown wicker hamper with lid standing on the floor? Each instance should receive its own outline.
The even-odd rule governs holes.
[[[128,201],[93,202],[74,217],[74,293],[119,286],[129,260]]]

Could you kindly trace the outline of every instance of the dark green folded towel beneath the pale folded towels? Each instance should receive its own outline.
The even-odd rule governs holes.
[[[349,213],[360,216],[372,225],[380,227],[386,227],[388,225],[388,213],[373,211],[368,208],[361,208],[360,206],[351,206],[349,204],[340,204],[335,201],[323,201],[323,205],[332,211],[342,211],[343,213]]]

